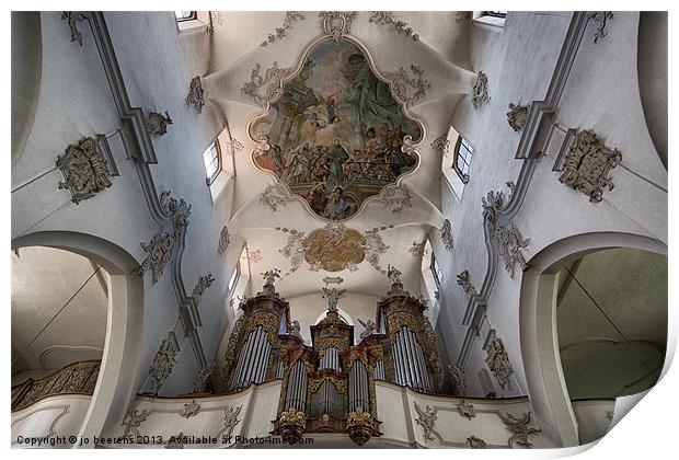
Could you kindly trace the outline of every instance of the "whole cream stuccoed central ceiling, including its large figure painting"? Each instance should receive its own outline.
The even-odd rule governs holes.
[[[440,243],[444,223],[431,145],[475,81],[469,24],[456,16],[222,13],[203,84],[244,147],[225,223],[257,253],[255,286],[275,266],[287,297],[336,275],[380,297],[395,264],[406,288],[419,288],[411,250]]]

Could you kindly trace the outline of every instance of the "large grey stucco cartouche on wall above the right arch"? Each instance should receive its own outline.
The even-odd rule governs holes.
[[[582,130],[566,154],[559,181],[588,195],[589,202],[599,203],[605,188],[613,189],[608,174],[621,161],[622,153],[618,149],[606,147],[594,130]]]

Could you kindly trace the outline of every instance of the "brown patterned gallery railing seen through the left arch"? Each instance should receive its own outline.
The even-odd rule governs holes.
[[[101,361],[73,363],[42,379],[27,379],[12,387],[12,412],[56,394],[92,394]]]

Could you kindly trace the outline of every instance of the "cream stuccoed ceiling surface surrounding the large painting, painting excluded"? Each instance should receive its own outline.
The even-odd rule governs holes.
[[[441,151],[433,142],[448,133],[454,107],[471,92],[475,78],[470,68],[467,16],[458,12],[357,12],[335,16],[319,12],[212,14],[216,25],[209,72],[202,79],[203,88],[208,106],[214,104],[212,107],[226,114],[232,138],[243,146],[234,152],[238,175],[234,212],[230,222],[225,223],[248,243],[255,288],[260,272],[278,267],[284,275],[278,290],[288,299],[311,292],[320,295],[325,276],[341,276],[343,287],[349,291],[379,298],[388,289],[384,271],[392,264],[403,272],[406,289],[418,291],[421,251],[414,245],[427,237],[440,241],[438,229],[444,222],[439,210]],[[398,21],[406,24],[398,25]],[[267,38],[269,34],[272,37]],[[276,176],[264,171],[262,164],[255,164],[260,154],[271,156],[275,142],[273,139],[271,145],[261,142],[251,129],[257,118],[269,115],[267,122],[275,120],[275,111],[271,116],[272,107],[285,96],[281,93],[292,91],[287,85],[302,71],[309,51],[319,43],[332,39],[333,34],[337,43],[350,42],[366,53],[371,70],[390,82],[393,97],[423,130],[410,153],[418,157],[416,166],[392,181],[391,188],[382,188],[381,196],[367,198],[356,214],[347,212],[336,223],[324,218],[322,211],[314,212],[301,197],[290,196],[290,181],[283,174]],[[311,72],[333,66],[342,71],[341,68],[348,67],[340,56],[327,54],[322,58],[313,62],[317,67]],[[325,83],[342,89],[345,81]],[[317,88],[311,92],[311,97],[314,95],[320,96],[318,105],[325,105],[321,108],[326,111],[330,103],[324,97],[329,94]],[[337,96],[334,107],[338,118],[346,118],[343,122],[350,118],[352,106],[346,96],[346,92]],[[298,106],[299,112],[295,114],[302,118],[300,125],[306,123],[307,127],[312,116],[303,112],[308,106]],[[329,141],[321,142],[314,137],[318,128],[319,125],[312,133],[302,133],[298,143],[306,139],[332,149]],[[352,143],[346,136],[342,142]],[[296,146],[281,147],[283,154],[288,156]],[[403,150],[407,150],[407,145]],[[352,151],[348,153],[353,157]],[[314,160],[312,154],[311,162]],[[387,193],[390,189],[392,195]],[[324,308],[319,297],[319,312]]]

